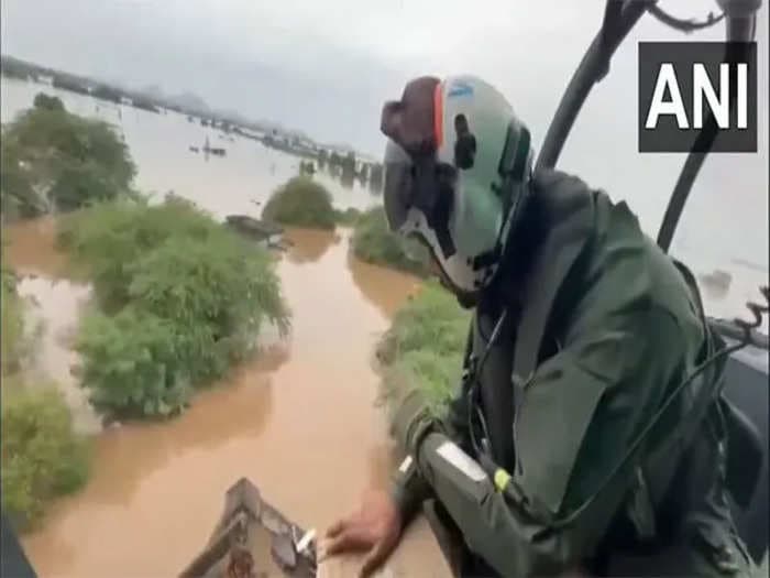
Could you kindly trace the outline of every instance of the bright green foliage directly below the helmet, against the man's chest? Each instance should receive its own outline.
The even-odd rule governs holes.
[[[459,383],[470,318],[438,283],[424,285],[380,342],[385,399],[399,388],[418,388],[441,415]]]

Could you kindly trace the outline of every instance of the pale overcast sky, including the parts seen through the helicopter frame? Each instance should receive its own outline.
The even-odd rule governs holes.
[[[698,227],[707,218],[717,228],[729,190],[737,208],[725,242],[750,242],[752,253],[761,246],[759,260],[767,263],[763,4],[760,153],[710,159],[689,215]],[[189,90],[211,107],[278,121],[377,156],[384,145],[383,101],[397,98],[405,81],[421,74],[486,78],[508,97],[539,144],[604,10],[601,0],[3,0],[1,6],[6,54],[135,87]],[[714,0],[661,6],[697,19],[718,11]],[[723,34],[719,25],[691,39]],[[683,39],[645,17],[591,95],[560,161],[616,197],[634,197],[642,221],[662,215],[683,157],[637,153],[637,42]]]

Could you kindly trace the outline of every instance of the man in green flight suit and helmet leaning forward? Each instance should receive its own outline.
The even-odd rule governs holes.
[[[365,550],[370,574],[421,506],[455,575],[749,572],[724,363],[696,371],[719,339],[689,271],[625,203],[534,174],[529,131],[479,78],[413,80],[382,130],[389,226],[474,317],[448,415],[403,393],[394,489],[333,524],[327,554]]]

